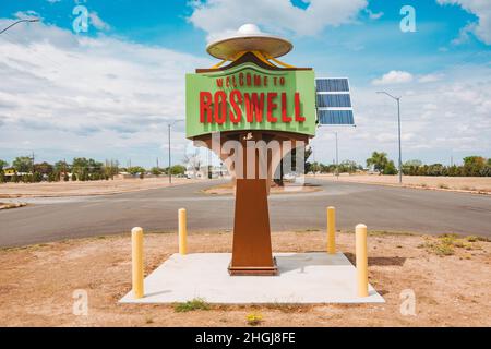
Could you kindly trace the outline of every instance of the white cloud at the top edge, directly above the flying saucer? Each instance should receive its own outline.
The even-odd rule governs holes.
[[[263,29],[298,35],[314,35],[326,26],[338,26],[356,20],[367,8],[367,0],[310,0],[307,9],[290,0],[205,0],[192,1],[189,21],[209,34],[209,38],[235,32],[244,23]]]

